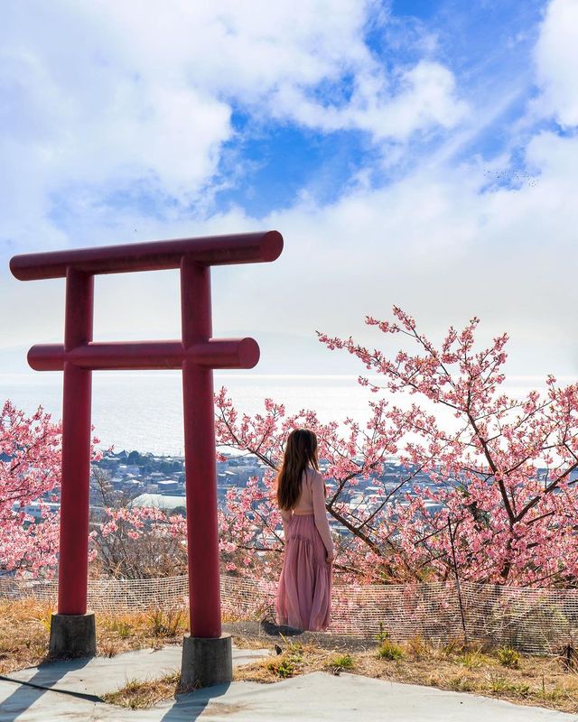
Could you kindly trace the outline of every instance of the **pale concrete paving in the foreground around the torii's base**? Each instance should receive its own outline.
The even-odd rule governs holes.
[[[234,648],[233,659],[236,664],[247,663],[268,653]],[[181,647],[165,647],[159,652],[55,662],[15,672],[12,680],[0,680],[0,722],[191,722],[198,718],[213,722],[294,718],[308,722],[578,722],[578,715],[348,673],[336,677],[313,672],[275,684],[232,682],[146,710],[121,709],[98,701],[98,694],[117,690],[126,680],[152,679],[178,669],[180,654]],[[42,686],[49,689],[39,689]]]

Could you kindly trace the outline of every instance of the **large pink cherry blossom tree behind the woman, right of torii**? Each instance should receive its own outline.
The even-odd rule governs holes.
[[[314,412],[287,416],[267,399],[265,412],[240,414],[225,390],[216,397],[219,441],[258,458],[265,483],[229,492],[222,527],[229,569],[278,572],[283,540],[275,509],[275,467],[289,430],[308,426],[327,459],[327,511],[348,534],[339,540],[335,569],[364,582],[461,579],[518,585],[573,585],[578,572],[578,384],[546,379],[546,393],[514,399],[502,391],[508,336],[476,350],[472,319],[451,328],[438,349],[394,308],[396,321],[368,317],[370,326],[415,345],[393,359],[352,338],[319,338],[329,349],[358,356],[380,383],[359,377],[374,392],[366,427],[346,419],[323,424]],[[400,397],[391,405],[380,393]],[[416,396],[420,403],[401,403]],[[451,412],[443,424],[435,410]],[[404,471],[382,488],[373,506],[346,504],[360,478],[379,486],[387,455]],[[427,486],[415,477],[426,472]],[[238,552],[242,551],[242,555]],[[258,551],[258,555],[251,553]],[[240,564],[239,564],[240,560]]]

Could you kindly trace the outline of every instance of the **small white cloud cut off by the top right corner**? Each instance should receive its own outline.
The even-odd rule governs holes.
[[[536,43],[538,108],[560,125],[578,125],[578,2],[552,0]]]

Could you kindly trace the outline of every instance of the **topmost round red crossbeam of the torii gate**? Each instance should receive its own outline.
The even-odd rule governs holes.
[[[15,255],[10,270],[20,281],[36,281],[63,278],[69,268],[90,275],[161,271],[179,268],[183,257],[204,266],[266,263],[282,250],[283,236],[266,231]]]

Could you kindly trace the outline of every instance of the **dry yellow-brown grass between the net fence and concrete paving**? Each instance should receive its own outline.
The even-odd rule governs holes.
[[[34,600],[0,600],[0,674],[34,666],[46,659],[51,608]],[[134,649],[180,643],[187,618],[178,612],[125,616],[98,614],[98,653],[114,656]],[[260,648],[273,643],[234,635],[237,647]],[[351,672],[383,680],[423,684],[442,690],[475,692],[578,713],[578,658],[568,669],[562,657],[525,656],[504,648],[489,650],[459,643],[433,645],[420,637],[403,644],[384,639],[373,650],[343,653],[311,643],[282,638],[283,653],[233,671],[234,680],[275,682],[311,671]],[[381,650],[381,652],[380,652]],[[398,652],[399,651],[399,652]],[[393,657],[393,659],[392,659]],[[160,680],[130,681],[107,701],[143,708],[178,692],[175,672]]]

